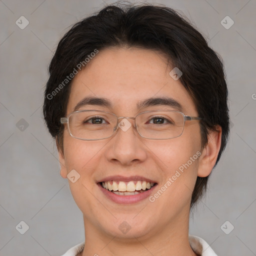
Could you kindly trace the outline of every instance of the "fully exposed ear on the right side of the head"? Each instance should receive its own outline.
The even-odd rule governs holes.
[[[220,126],[217,126],[216,130],[209,132],[208,142],[202,149],[202,153],[199,157],[197,176],[208,176],[214,167],[221,145],[221,133],[222,130]]]

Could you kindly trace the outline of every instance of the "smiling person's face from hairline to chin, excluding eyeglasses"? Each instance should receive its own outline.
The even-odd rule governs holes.
[[[97,109],[127,117],[164,109],[198,116],[188,92],[169,75],[171,69],[163,55],[151,50],[100,50],[73,78],[66,116],[74,109]],[[79,103],[85,97],[105,98],[110,104]],[[148,98],[163,97],[180,106],[158,100],[155,105],[137,108]],[[131,124],[126,131],[118,127],[111,137],[101,140],[76,139],[70,136],[65,124],[63,154],[59,152],[61,175],[66,177],[73,169],[80,175],[74,183],[68,182],[85,225],[120,238],[148,237],[180,228],[181,221],[188,221],[200,165],[199,121],[185,121],[181,136],[147,139],[137,133],[134,119],[126,120]],[[110,186],[113,181],[122,181],[127,190],[129,181],[133,181],[129,182],[131,187],[138,182],[139,190],[139,181],[153,186],[137,194],[118,195],[103,188],[102,181],[110,181]]]

